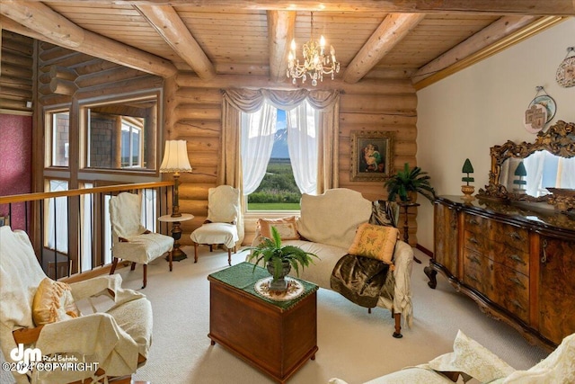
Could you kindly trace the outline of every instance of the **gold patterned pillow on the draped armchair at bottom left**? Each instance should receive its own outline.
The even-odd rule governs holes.
[[[45,278],[40,281],[32,302],[32,318],[36,326],[79,317],[70,286],[66,282]]]

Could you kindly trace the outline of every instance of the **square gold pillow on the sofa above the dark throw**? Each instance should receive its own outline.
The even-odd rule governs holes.
[[[376,226],[369,223],[361,224],[349,247],[350,255],[371,257],[391,264],[394,257],[395,243],[399,238],[399,230],[393,227]]]

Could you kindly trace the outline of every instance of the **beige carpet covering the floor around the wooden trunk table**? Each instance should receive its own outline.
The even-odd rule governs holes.
[[[193,255],[191,247],[184,247]],[[134,378],[153,384],[257,384],[272,383],[267,376],[226,352],[211,346],[209,332],[209,283],[207,276],[227,266],[227,254],[212,254],[200,247],[193,257],[174,263],[168,272],[164,260],[148,267],[145,290],[154,310],[154,338],[148,362]],[[477,305],[438,276],[438,288],[430,290],[423,266],[428,257],[415,251],[423,264],[414,263],[412,296],[413,327],[403,328],[403,339],[394,339],[389,311],[371,314],[341,297],[318,292],[318,347],[315,361],[306,362],[289,380],[292,384],[326,383],[332,377],[349,384],[362,383],[405,366],[428,362],[450,352],[457,329],[473,337],[517,369],[526,369],[547,353],[532,346],[509,326],[486,317]],[[243,261],[233,255],[233,263]],[[142,270],[121,272],[124,286],[140,290]],[[4,381],[2,381],[4,383]]]

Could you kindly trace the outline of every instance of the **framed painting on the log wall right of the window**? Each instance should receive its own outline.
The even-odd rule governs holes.
[[[351,131],[352,182],[384,181],[394,169],[394,132]]]

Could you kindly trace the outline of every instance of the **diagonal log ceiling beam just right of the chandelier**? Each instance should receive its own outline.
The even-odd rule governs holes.
[[[353,84],[366,76],[424,17],[425,13],[388,14],[351,60],[343,74],[343,81]]]

